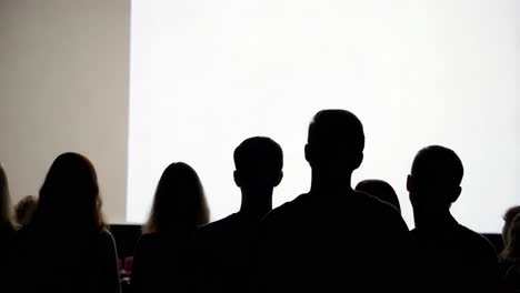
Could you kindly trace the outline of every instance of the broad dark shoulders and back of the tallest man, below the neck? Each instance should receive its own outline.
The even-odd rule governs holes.
[[[306,193],[262,220],[259,261],[277,292],[358,285],[363,292],[379,292],[398,277],[398,271],[388,270],[408,265],[410,246],[399,212],[376,198],[360,192]],[[400,271],[402,275],[407,274]],[[381,283],[370,283],[371,279]]]

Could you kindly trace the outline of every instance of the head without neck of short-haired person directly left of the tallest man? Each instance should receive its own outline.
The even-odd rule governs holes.
[[[272,189],[282,179],[283,152],[270,138],[244,140],[234,150],[234,182],[242,189]]]

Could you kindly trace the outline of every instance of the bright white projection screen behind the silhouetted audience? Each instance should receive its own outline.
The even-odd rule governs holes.
[[[363,122],[359,180],[397,190],[417,151],[453,149],[466,174],[452,211],[499,232],[520,203],[519,1],[132,1],[128,221],[148,215],[173,161],[199,173],[212,220],[236,212],[232,153],[267,135],[284,151],[274,205],[310,186],[307,127],[321,109]]]

